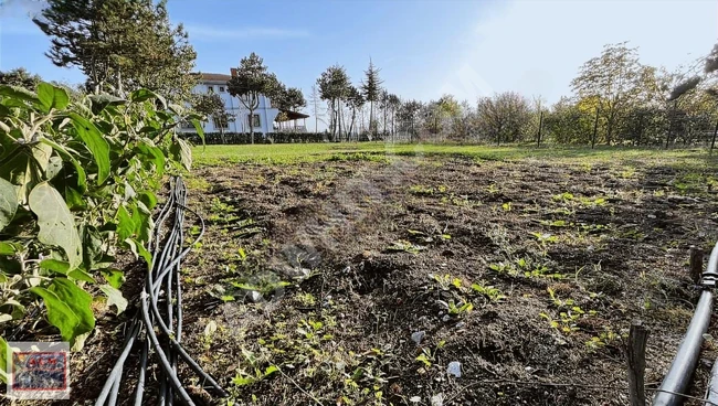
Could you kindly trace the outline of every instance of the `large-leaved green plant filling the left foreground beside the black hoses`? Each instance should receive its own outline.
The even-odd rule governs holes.
[[[201,135],[199,119],[148,89],[71,100],[47,83],[36,94],[0,86],[0,354],[2,333],[30,311],[77,346],[95,297],[124,310],[115,256],[151,264],[156,192],[165,173],[191,165],[176,128]]]

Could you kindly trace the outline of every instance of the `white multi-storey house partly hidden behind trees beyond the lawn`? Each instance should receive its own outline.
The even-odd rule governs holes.
[[[202,73],[200,81],[192,89],[194,94],[215,93],[220,95],[224,101],[224,106],[231,116],[234,117],[233,121],[226,124],[224,132],[250,132],[250,126],[254,127],[254,132],[274,132],[279,130],[279,124],[275,121],[279,116],[279,109],[272,106],[272,100],[262,95],[260,96],[260,104],[254,109],[254,117],[250,117],[250,110],[244,107],[239,97],[232,97],[226,88],[226,83],[232,78],[232,75],[224,75],[219,73]],[[284,111],[281,117],[286,120],[296,120],[299,118],[309,117],[302,113]],[[204,132],[220,132],[220,122],[210,119],[209,122],[203,124]],[[282,126],[282,128],[292,128],[292,130],[305,132],[306,126]],[[183,132],[194,132],[194,127],[191,125],[182,127]]]

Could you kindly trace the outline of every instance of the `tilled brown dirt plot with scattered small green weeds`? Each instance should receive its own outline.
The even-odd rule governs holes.
[[[631,322],[651,330],[648,388],[688,325],[688,248],[718,239],[715,175],[352,154],[201,168],[188,181],[208,229],[183,265],[186,348],[231,393],[220,404],[625,405]],[[122,335],[109,324],[105,336]],[[76,364],[87,403],[112,354]],[[708,340],[694,396],[716,355]]]

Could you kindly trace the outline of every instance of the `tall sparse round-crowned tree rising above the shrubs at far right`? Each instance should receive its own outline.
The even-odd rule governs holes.
[[[579,76],[571,82],[579,97],[598,98],[599,111],[606,125],[606,143],[613,141],[621,115],[636,98],[641,73],[636,49],[622,42],[605,45],[601,56],[585,62]]]

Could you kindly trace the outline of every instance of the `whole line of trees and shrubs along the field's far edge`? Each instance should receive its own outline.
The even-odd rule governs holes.
[[[47,57],[76,66],[86,81],[73,90],[117,96],[148,88],[170,103],[190,104],[223,128],[234,117],[219,95],[193,95],[197,53],[182,24],[169,21],[166,0],[51,0],[33,21],[51,39]],[[717,45],[718,46],[718,45]],[[261,95],[283,111],[308,107],[326,139],[347,141],[553,142],[561,145],[664,145],[705,142],[718,129],[716,49],[685,70],[643,64],[629,43],[608,44],[571,82],[572,94],[547,105],[504,92],[476,100],[453,95],[421,101],[383,87],[370,60],[352,83],[341,65],[327,67],[312,87],[282,84],[255,53],[243,57],[228,83],[250,115]],[[32,89],[40,78],[20,68],[0,72],[0,83]],[[250,116],[251,117],[251,116]],[[253,126],[250,126],[252,141]]]

